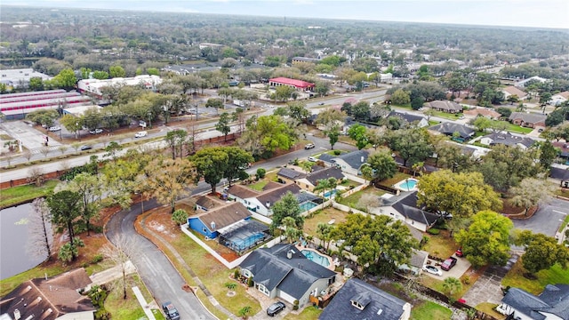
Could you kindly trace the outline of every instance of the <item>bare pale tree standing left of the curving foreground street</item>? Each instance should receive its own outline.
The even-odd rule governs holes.
[[[136,238],[118,235],[110,239],[114,245],[106,244],[100,250],[101,254],[108,260],[113,261],[113,263],[121,269],[121,286],[123,289],[123,299],[126,300],[126,275],[128,273],[128,267],[130,265],[129,257],[138,254],[138,244],[136,243]]]

